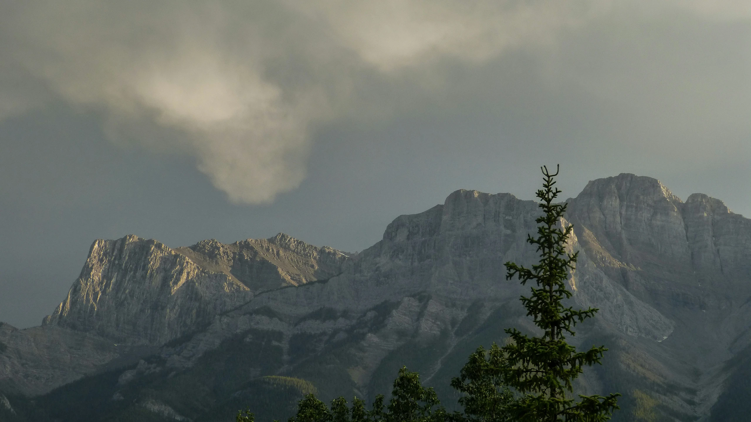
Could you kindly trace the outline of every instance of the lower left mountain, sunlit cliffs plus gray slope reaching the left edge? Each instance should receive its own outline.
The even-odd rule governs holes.
[[[0,325],[0,390],[45,393],[107,364],[137,361],[254,292],[335,276],[347,258],[285,234],[179,249],[133,235],[96,240],[68,297],[41,327]]]

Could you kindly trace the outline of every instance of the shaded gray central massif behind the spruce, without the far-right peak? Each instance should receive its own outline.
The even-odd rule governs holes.
[[[248,333],[273,333],[268,335],[276,338],[287,371],[308,366],[311,354],[330,356],[333,349],[348,356],[343,369],[362,396],[382,390],[377,380],[394,354],[433,345],[440,355],[421,372],[430,378],[454,365],[457,355],[466,357],[466,342],[483,324],[493,321],[496,335],[502,327],[532,329],[517,303],[527,288],[505,281],[504,263],[536,261],[526,234],[535,231],[538,215],[536,203],[511,194],[455,191],[442,205],[395,219],[383,240],[345,262],[339,276],[258,294],[182,345],[164,348],[161,357],[170,370],[182,370],[234,336],[255,344],[264,336]],[[674,321],[610,279],[577,238],[569,248],[580,252],[575,300],[600,308],[600,324],[652,342],[671,335]],[[314,316],[324,314],[330,316]],[[300,338],[313,346],[301,345]],[[300,348],[306,350],[303,361]]]

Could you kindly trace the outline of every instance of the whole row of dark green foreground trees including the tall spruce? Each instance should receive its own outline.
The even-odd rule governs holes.
[[[537,246],[538,264],[532,268],[505,263],[506,279],[517,276],[522,285],[534,282],[529,297],[520,298],[535,325],[543,334],[526,336],[516,328],[505,330],[511,342],[504,347],[495,343],[482,346],[469,356],[460,375],[451,380],[451,387],[462,393],[459,404],[463,411],[449,413],[442,407],[432,387],[426,388],[417,372],[406,367],[399,371],[388,405],[385,396],[375,396],[370,410],[365,401],[355,397],[351,405],[344,397],[333,399],[331,405],[307,394],[297,405],[297,414],[288,422],[602,422],[618,407],[618,393],[609,396],[579,396],[572,393],[572,380],[581,375],[584,366],[601,363],[605,346],[576,351],[566,342],[574,336],[572,328],[598,309],[572,309],[562,300],[572,297],[566,288],[569,270],[575,269],[578,252],[566,252],[566,241],[573,226],[561,224],[566,203],[553,203],[561,191],[547,167],[541,167],[543,185],[536,193],[544,214],[536,222],[537,234],[527,242]],[[254,422],[249,409],[237,413],[237,422]]]

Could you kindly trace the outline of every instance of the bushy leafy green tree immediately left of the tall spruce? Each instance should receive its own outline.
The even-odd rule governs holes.
[[[451,380],[451,387],[464,394],[459,404],[464,408],[466,420],[509,420],[507,406],[514,400],[514,394],[503,384],[506,367],[503,351],[496,343],[487,351],[480,346],[469,356],[459,376]]]

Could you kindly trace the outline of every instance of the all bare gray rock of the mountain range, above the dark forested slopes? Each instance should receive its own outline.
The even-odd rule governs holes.
[[[579,252],[573,304],[600,309],[572,342],[608,336],[609,365],[644,381],[640,388],[680,420],[707,417],[727,387],[725,364],[751,345],[751,220],[706,195],[683,203],[656,179],[632,174],[590,182],[568,202],[562,224],[574,224],[575,237],[567,247]],[[104,342],[158,346],[170,373],[179,373],[238,336],[261,347],[263,333],[274,333],[263,345],[279,351],[282,366],[254,367],[256,375],[296,373],[309,359],[336,354],[347,357],[342,370],[353,391],[366,396],[382,387],[400,350],[430,345],[421,374],[446,376],[466,358],[468,342],[502,341],[502,327],[534,332],[517,301],[529,287],[505,281],[503,264],[537,261],[526,237],[539,213],[511,194],[455,191],[424,213],[394,219],[379,243],[349,257],[282,234],[178,249],[137,237],[98,240],[43,327],[12,335],[0,327],[11,351],[0,362],[16,368],[0,381],[20,385],[47,364],[45,340],[37,349],[22,345],[32,333],[59,333],[86,351],[62,351],[75,370],[54,372],[50,363],[47,378],[23,381],[26,391],[122,359],[125,351]],[[491,332],[496,337],[481,337]],[[154,369],[139,368],[123,373],[123,383]],[[603,393],[605,381],[588,373],[578,389]]]

